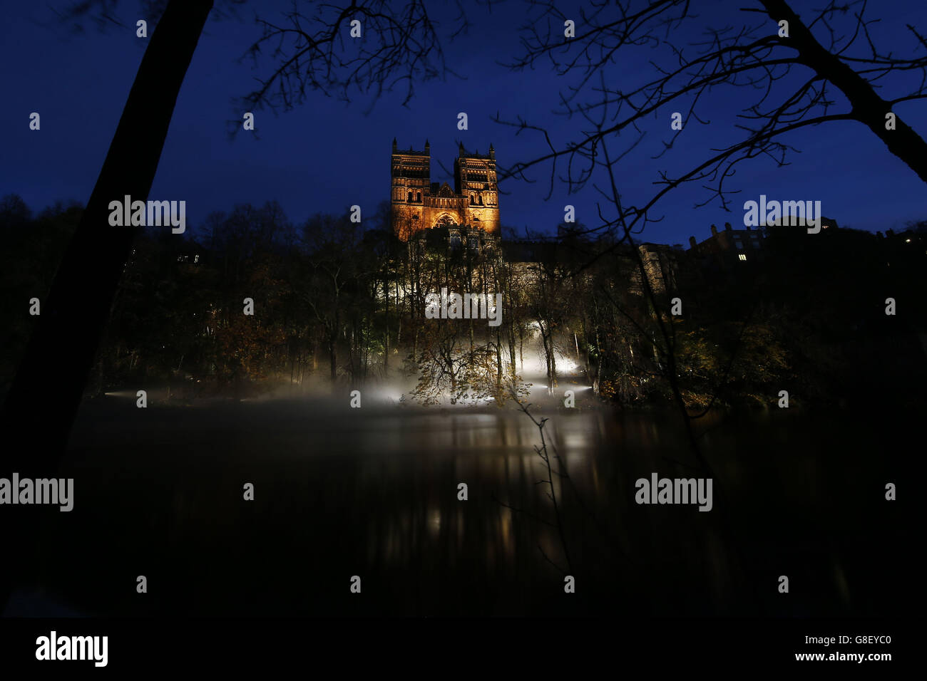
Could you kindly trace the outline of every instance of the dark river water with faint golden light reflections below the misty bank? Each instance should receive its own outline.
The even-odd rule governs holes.
[[[716,475],[699,512],[634,502],[640,477],[701,475],[679,463],[678,416],[546,410],[567,563],[524,414],[326,405],[84,405],[62,472],[74,511],[45,514],[23,588],[85,614],[905,611],[911,537],[884,486],[914,455],[908,421],[699,422]]]

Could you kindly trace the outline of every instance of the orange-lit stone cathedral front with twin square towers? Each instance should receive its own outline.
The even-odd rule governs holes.
[[[390,161],[392,176],[393,229],[402,241],[413,234],[446,227],[451,238],[478,230],[499,235],[499,188],[496,185],[496,152],[467,154],[463,143],[454,158],[454,187],[431,182],[431,147],[425,151],[399,149],[393,140]]]

